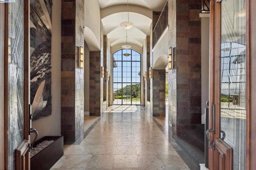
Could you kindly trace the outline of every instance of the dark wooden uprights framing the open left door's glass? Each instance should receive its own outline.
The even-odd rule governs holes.
[[[5,169],[8,169],[8,9],[9,4],[5,3],[4,10],[4,145],[5,145]],[[24,140],[30,142],[30,119],[29,119],[29,103],[30,103],[30,0],[24,0]],[[23,142],[24,143],[24,142]],[[26,158],[29,158],[26,155]],[[28,164],[27,164],[28,163]],[[30,162],[26,162],[29,165]]]

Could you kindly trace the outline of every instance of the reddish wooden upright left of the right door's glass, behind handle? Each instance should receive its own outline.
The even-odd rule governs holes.
[[[212,118],[212,105],[216,105],[216,111],[219,109],[219,81],[215,81],[219,77],[218,70],[219,67],[219,44],[220,44],[220,4],[216,3],[216,0],[210,1],[210,80],[209,80],[209,118]],[[218,36],[218,37],[216,37]],[[218,68],[216,68],[218,67]],[[216,88],[217,87],[217,88]],[[215,114],[215,120],[219,120],[220,115]],[[211,120],[211,119],[210,119]],[[212,129],[212,121],[209,121],[209,129]],[[215,136],[220,135],[220,128],[219,126],[215,126],[215,134],[210,133],[210,138],[215,140]],[[218,169],[216,165],[219,164],[218,162],[218,152],[215,152],[213,149],[209,149],[209,169]]]

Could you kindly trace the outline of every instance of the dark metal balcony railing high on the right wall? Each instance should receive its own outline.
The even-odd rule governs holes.
[[[167,26],[168,26],[168,0],[164,5],[164,8],[153,30],[153,47],[156,45],[156,42],[159,40],[159,38],[161,37],[162,33],[164,32]]]

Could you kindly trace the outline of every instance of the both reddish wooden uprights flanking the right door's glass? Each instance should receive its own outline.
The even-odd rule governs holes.
[[[210,1],[210,96],[209,105],[216,104],[216,111],[220,110],[220,2],[222,0]],[[256,111],[256,78],[250,74],[256,71],[256,1],[246,0],[246,169],[256,169],[256,115],[251,114]],[[253,55],[252,55],[253,54]],[[211,86],[212,85],[212,86]],[[212,107],[209,107],[209,117],[212,117]],[[215,120],[220,120],[220,115],[215,114]],[[209,129],[212,128],[212,122],[209,121]],[[220,136],[220,122],[216,123],[215,134],[210,134],[212,140],[222,142]],[[230,153],[227,153],[230,154]],[[214,150],[209,150],[209,169],[218,169],[216,163],[219,155]],[[232,161],[232,160],[228,160]]]

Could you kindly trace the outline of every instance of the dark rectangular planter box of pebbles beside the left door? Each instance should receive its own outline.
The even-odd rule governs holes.
[[[44,140],[54,140],[54,142],[30,159],[31,170],[49,170],[64,154],[63,136],[44,136],[34,143],[34,147]]]

